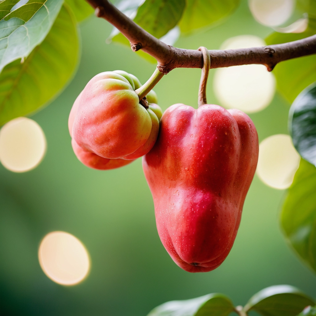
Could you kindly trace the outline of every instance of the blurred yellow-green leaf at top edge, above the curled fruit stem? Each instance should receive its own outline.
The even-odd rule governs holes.
[[[231,15],[238,5],[239,0],[187,0],[186,9],[179,23],[181,32],[188,33],[218,23]]]

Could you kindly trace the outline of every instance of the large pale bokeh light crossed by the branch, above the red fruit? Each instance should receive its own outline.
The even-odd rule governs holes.
[[[221,49],[265,46],[264,40],[253,35],[240,35],[226,40]],[[213,88],[220,105],[246,113],[263,110],[273,99],[276,81],[264,65],[242,65],[219,68]]]

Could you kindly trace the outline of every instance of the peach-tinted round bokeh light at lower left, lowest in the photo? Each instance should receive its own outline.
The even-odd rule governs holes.
[[[39,261],[44,273],[63,285],[80,283],[90,270],[89,255],[82,242],[61,231],[51,232],[41,241]]]

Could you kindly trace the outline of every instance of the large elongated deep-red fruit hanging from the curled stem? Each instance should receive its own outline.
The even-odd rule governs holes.
[[[258,134],[239,110],[170,106],[143,170],[158,234],[189,272],[218,267],[233,246],[258,161]]]

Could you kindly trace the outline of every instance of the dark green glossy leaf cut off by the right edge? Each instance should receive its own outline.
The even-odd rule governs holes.
[[[316,166],[316,85],[306,88],[293,102],[289,130],[299,154]]]

